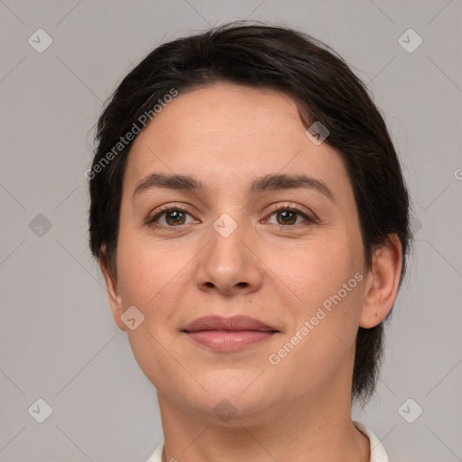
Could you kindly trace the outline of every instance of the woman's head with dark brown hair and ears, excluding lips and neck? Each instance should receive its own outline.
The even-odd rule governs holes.
[[[409,199],[383,116],[344,60],[267,25],[165,43],[116,88],[96,141],[90,248],[158,392],[252,413],[347,381],[366,402],[405,273]],[[131,306],[144,317],[134,330],[121,319]],[[183,331],[209,314],[276,334],[211,352]]]

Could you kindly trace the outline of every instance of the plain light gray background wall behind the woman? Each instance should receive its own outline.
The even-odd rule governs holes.
[[[354,418],[392,461],[462,460],[461,10],[457,0],[0,0],[0,459],[143,461],[162,440],[155,390],[88,250],[91,129],[152,48],[249,18],[327,42],[383,110],[417,241],[382,378]],[[28,42],[39,28],[53,41],[42,53]],[[398,42],[409,28],[423,40],[413,52]],[[53,410],[43,423],[28,412],[39,398]]]

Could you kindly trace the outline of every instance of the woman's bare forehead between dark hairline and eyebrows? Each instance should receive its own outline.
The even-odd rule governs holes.
[[[135,139],[124,195],[152,171],[189,174],[222,194],[273,173],[306,173],[350,189],[340,155],[305,131],[295,101],[272,89],[219,83],[180,92]]]

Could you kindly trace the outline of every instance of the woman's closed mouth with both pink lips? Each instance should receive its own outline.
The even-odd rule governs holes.
[[[279,330],[247,316],[206,316],[194,320],[182,332],[204,347],[219,352],[234,352],[268,340]]]

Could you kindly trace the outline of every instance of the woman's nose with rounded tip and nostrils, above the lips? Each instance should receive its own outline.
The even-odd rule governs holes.
[[[221,232],[219,224],[211,226],[208,239],[196,272],[199,290],[218,291],[226,296],[258,291],[264,265],[245,226],[236,226],[229,235]]]

